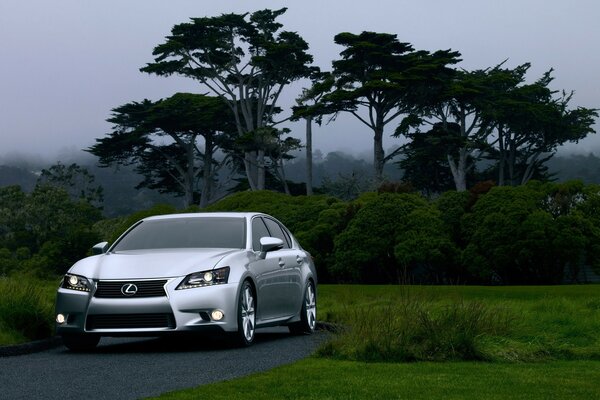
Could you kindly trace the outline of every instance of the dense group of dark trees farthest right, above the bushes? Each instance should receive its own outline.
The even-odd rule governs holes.
[[[556,97],[549,88],[551,70],[528,84],[529,63],[515,68],[503,64],[457,70],[437,98],[434,94],[429,105],[407,115],[396,129],[396,136],[412,139],[420,136],[423,126],[438,127],[430,132],[444,140],[429,140],[438,146],[430,153],[445,152],[444,164],[456,190],[467,189],[467,177],[482,158],[493,160],[491,172],[501,186],[543,177],[543,164],[559,145],[594,132],[596,110],[569,110],[571,94]]]

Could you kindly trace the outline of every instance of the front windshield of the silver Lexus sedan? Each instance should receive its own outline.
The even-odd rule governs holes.
[[[143,221],[112,251],[246,247],[244,218],[194,217]]]

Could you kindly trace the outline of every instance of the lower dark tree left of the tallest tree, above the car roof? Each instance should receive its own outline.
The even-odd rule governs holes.
[[[168,99],[131,102],[113,110],[107,137],[88,149],[101,165],[134,164],[140,186],[183,195],[185,205],[200,195],[210,201],[218,149],[232,151],[235,123],[218,97],[177,93]],[[198,138],[203,138],[203,148]],[[201,184],[199,184],[201,182]]]

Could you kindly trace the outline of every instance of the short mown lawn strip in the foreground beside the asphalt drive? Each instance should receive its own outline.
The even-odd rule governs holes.
[[[361,363],[309,358],[160,399],[597,399],[599,361]]]

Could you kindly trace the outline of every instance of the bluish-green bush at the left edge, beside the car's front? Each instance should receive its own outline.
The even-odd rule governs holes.
[[[39,276],[64,273],[98,241],[91,226],[100,211],[84,200],[71,200],[53,186],[0,188],[0,272],[36,271]]]

